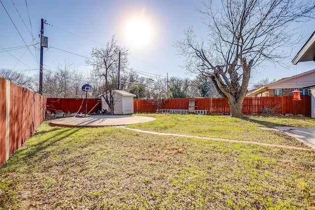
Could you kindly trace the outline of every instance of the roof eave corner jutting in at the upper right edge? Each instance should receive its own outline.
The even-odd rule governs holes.
[[[304,61],[315,61],[315,32],[292,60],[293,65]]]

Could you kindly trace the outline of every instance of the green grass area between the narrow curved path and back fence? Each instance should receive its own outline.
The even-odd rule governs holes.
[[[250,116],[247,118],[231,118],[227,115],[188,114],[150,114],[146,116],[152,116],[157,119],[148,123],[128,125],[128,127],[162,133],[256,141],[300,147],[305,147],[305,145],[285,135],[284,132],[265,131],[257,127],[293,126],[315,128],[314,119],[295,116]]]

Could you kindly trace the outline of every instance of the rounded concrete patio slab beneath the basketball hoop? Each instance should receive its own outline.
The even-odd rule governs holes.
[[[95,115],[90,117],[67,117],[52,120],[52,126],[64,127],[103,127],[145,123],[155,120],[154,117],[135,115]]]

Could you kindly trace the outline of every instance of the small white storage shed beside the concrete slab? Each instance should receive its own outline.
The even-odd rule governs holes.
[[[132,114],[133,113],[133,97],[136,95],[128,93],[124,90],[113,90],[114,98],[114,114]],[[109,107],[102,97],[102,109],[109,111]]]

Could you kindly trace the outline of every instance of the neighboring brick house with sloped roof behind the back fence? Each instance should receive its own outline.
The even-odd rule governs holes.
[[[247,96],[293,96],[291,92],[295,89],[302,91],[301,96],[309,96],[310,90],[305,87],[313,84],[315,84],[315,69],[270,83],[248,93]]]

